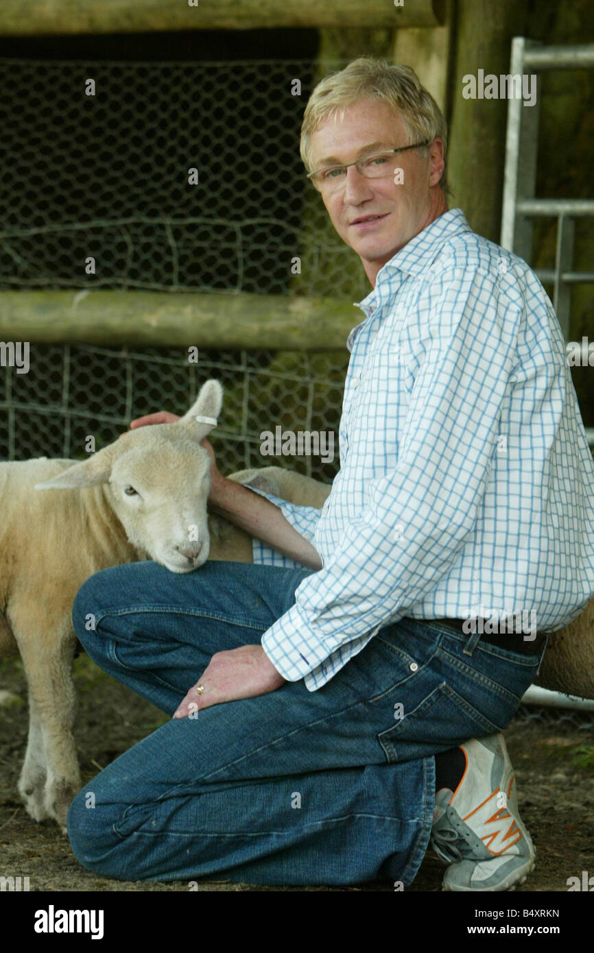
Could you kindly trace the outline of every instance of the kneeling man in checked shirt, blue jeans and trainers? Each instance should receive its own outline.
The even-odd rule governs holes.
[[[206,444],[210,505],[258,562],[147,561],[81,588],[90,655],[173,716],[92,781],[93,810],[86,789],[72,802],[95,871],[408,885],[430,840],[448,889],[534,866],[501,731],[542,631],[594,592],[594,467],[550,302],[448,211],[445,139],[407,68],[360,58],[312,94],[301,154],[373,288],[340,471],[318,512],[226,480]],[[526,610],[538,632],[507,625]]]

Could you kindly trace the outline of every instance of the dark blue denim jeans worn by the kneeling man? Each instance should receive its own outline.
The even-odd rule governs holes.
[[[135,562],[89,578],[72,618],[101,668],[173,715],[211,656],[259,642],[309,573],[206,562],[180,576]],[[72,801],[75,856],[127,881],[410,884],[431,831],[434,755],[501,731],[542,658],[477,638],[403,618],[316,692],[285,682],[166,722]]]

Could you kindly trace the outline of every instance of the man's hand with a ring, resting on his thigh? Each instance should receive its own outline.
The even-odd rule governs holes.
[[[192,712],[218,705],[221,701],[268,695],[285,681],[261,645],[241,645],[229,652],[215,652],[195,686],[174,713],[174,718],[185,718]],[[198,685],[204,685],[201,694],[196,690]]]

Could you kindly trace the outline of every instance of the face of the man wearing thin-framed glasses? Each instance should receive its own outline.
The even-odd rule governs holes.
[[[341,122],[328,117],[312,133],[313,169],[396,149],[409,141],[401,118],[387,103],[359,99],[345,110]],[[429,156],[422,152],[397,152],[402,184],[395,184],[393,175],[366,178],[351,166],[341,190],[322,193],[332,224],[360,256],[372,285],[381,266],[447,209],[438,187],[443,169],[440,139],[435,140]],[[379,218],[362,220],[372,215]]]

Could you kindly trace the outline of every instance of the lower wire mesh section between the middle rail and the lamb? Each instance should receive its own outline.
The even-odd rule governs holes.
[[[338,423],[348,352],[200,351],[31,345],[27,374],[7,367],[0,395],[0,459],[85,458],[86,438],[110,443],[135,416],[183,414],[216,377],[225,396],[212,440],[222,473],[289,466],[331,482],[338,472]],[[261,434],[335,434],[336,453],[264,456]],[[327,446],[327,445],[326,445]],[[277,447],[275,447],[277,449]],[[307,444],[304,447],[307,450]],[[311,449],[311,448],[310,448]]]

